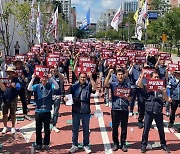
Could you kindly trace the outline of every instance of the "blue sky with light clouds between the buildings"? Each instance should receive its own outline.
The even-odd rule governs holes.
[[[106,9],[118,10],[119,6],[125,1],[137,0],[71,0],[71,3],[72,7],[76,7],[77,21],[83,21],[90,7],[90,20],[91,23],[94,23],[100,19],[101,13],[105,12]]]

